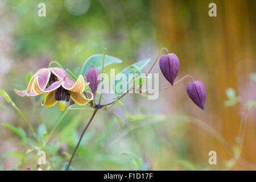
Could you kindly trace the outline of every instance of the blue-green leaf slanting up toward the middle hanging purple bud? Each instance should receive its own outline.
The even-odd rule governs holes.
[[[117,76],[115,76],[114,90],[115,90],[115,93],[118,94],[118,96],[116,97],[119,97],[121,94],[125,93],[127,89],[129,89],[129,86],[133,78],[141,74],[141,70],[149,63],[149,61],[150,59],[144,59],[142,61],[139,61],[133,65],[130,65],[129,67],[126,67],[125,69],[123,69],[122,72],[118,73]],[[130,77],[129,77],[129,74],[131,75]],[[126,76],[127,80],[122,79],[122,75]],[[126,85],[126,86],[122,88],[123,85]]]

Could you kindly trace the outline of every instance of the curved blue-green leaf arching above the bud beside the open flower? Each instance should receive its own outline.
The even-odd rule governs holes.
[[[86,73],[87,73],[88,69],[92,68],[92,64],[93,64],[93,68],[97,68],[99,71],[101,71],[102,70],[102,59],[103,59],[102,54],[90,56],[85,61],[84,65],[82,66],[82,71],[81,71],[82,76],[84,76],[84,78],[86,79]],[[113,64],[113,63],[122,63],[122,62],[123,61],[117,57],[105,55],[104,67],[107,67],[108,65]]]

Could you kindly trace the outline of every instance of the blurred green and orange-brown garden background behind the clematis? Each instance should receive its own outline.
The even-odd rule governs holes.
[[[46,17],[37,14],[40,2],[46,3]],[[211,2],[217,5],[217,17],[208,15]],[[49,133],[61,117],[59,107],[42,107],[40,96],[22,98],[14,92],[14,88],[26,87],[28,73],[57,60],[78,75],[84,61],[102,53],[105,47],[108,55],[123,60],[122,64],[108,67],[107,73],[110,68],[117,73],[136,61],[151,58],[144,68],[147,72],[160,48],[167,47],[180,59],[178,78],[190,74],[205,84],[205,111],[187,96],[189,79],[160,92],[158,100],[128,94],[122,98],[123,105],[111,109],[121,117],[122,129],[117,130],[118,122],[112,115],[98,113],[72,167],[138,169],[133,160],[121,154],[132,152],[143,160],[139,169],[255,170],[255,107],[247,112],[241,159],[237,162],[212,132],[217,131],[232,150],[245,104],[256,100],[255,9],[256,1],[252,0],[1,0],[0,87],[10,94],[39,134],[46,128]],[[160,73],[158,64],[152,72]],[[168,86],[162,74],[159,77],[160,88]],[[228,88],[236,91],[240,102],[225,105]],[[0,104],[0,122],[22,127],[33,139],[13,107],[2,97]],[[69,111],[49,141],[47,147],[57,169],[68,161],[91,114]],[[61,146],[66,152],[59,150]],[[26,154],[28,149],[13,131],[0,125],[2,169],[35,169],[36,154]],[[209,165],[209,151],[217,152],[216,165]],[[19,155],[6,155],[8,152]]]

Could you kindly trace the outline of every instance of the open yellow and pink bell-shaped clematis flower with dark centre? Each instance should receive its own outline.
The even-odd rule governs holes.
[[[51,107],[59,102],[60,110],[65,110],[66,102],[74,101],[78,105],[85,105],[93,99],[93,94],[86,92],[89,98],[82,94],[89,82],[85,84],[82,75],[76,82],[61,68],[42,68],[32,76],[26,90],[16,90],[19,96],[38,96],[46,94],[43,106]],[[72,100],[71,100],[72,99]]]

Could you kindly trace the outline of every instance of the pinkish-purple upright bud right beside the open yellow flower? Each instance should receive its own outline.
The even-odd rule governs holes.
[[[98,80],[98,75],[100,75],[100,71],[98,71],[97,68],[93,68],[92,64],[92,68],[88,69],[86,73],[86,80],[87,82],[90,82],[89,86],[93,92],[94,97],[97,92],[98,84],[100,84],[100,80]]]

